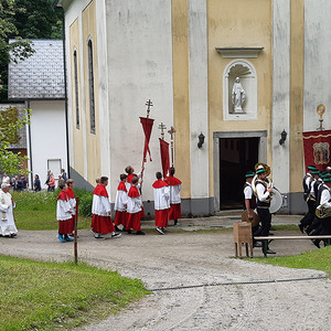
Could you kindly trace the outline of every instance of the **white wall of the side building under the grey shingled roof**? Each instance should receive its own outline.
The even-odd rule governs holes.
[[[33,177],[39,174],[42,186],[45,188],[47,160],[61,159],[62,168],[67,170],[64,100],[31,102],[30,108],[32,116],[29,157],[32,157]],[[58,174],[54,173],[55,179]]]

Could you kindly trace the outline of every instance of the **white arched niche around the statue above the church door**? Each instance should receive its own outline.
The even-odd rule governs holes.
[[[236,77],[241,78],[246,98],[243,113],[235,114],[232,104],[232,88]],[[223,73],[223,118],[224,120],[257,119],[257,75],[254,65],[246,60],[234,60]]]

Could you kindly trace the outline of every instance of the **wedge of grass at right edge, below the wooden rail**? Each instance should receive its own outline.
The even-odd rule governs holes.
[[[316,269],[327,271],[331,276],[331,246],[306,252],[300,255],[285,257],[256,257],[247,260],[276,265],[288,268]]]

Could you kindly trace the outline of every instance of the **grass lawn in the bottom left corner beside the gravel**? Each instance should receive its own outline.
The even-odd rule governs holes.
[[[0,256],[0,330],[67,330],[148,293],[138,279],[84,264]]]

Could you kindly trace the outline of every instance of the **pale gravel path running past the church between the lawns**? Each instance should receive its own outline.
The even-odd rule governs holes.
[[[54,231],[20,231],[15,239],[0,238],[0,250],[43,260],[72,259],[73,245],[61,244],[55,235]],[[277,256],[313,247],[309,241],[271,243]],[[231,232],[148,233],[97,242],[84,229],[79,232],[78,249],[81,259],[88,264],[140,278],[149,289],[324,276],[316,270],[231,258]],[[261,256],[260,248],[254,253]],[[331,281],[325,279],[154,291],[82,330],[330,330],[330,293]]]

